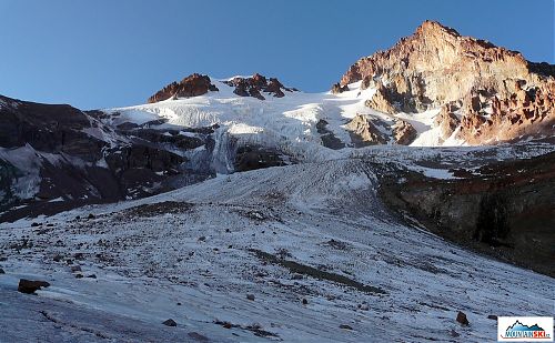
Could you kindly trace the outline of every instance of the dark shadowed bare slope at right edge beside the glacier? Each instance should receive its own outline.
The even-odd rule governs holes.
[[[555,276],[555,153],[485,164],[457,179],[384,173],[380,195],[432,232]],[[405,182],[400,183],[403,176]]]

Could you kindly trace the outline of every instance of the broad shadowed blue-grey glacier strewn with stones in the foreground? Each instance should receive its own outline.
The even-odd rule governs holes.
[[[406,226],[376,184],[369,159],[339,159],[1,224],[0,342],[484,342],[490,314],[552,312],[553,279]]]

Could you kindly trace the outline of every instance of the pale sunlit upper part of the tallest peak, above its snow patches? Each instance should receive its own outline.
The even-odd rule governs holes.
[[[528,74],[527,61],[521,53],[426,21],[390,50],[356,61],[341,84],[363,80],[369,87],[381,79],[393,83],[389,88],[401,100],[400,110],[423,111],[458,100],[480,84],[514,92],[512,84],[503,81],[527,79]]]

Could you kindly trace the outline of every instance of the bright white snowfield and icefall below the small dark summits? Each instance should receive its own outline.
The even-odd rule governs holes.
[[[213,83],[219,91],[205,95],[105,110],[108,113],[117,114],[107,123],[144,124],[162,119],[165,120],[167,128],[203,128],[219,124],[220,137],[231,134],[238,138],[240,143],[275,147],[304,158],[322,148],[321,133],[316,128],[320,121],[325,121],[326,130],[346,147],[354,147],[345,124],[356,114],[390,124],[395,119],[410,121],[417,131],[417,138],[413,143],[416,147],[463,143],[455,140],[443,142],[440,139],[440,132],[433,124],[437,111],[423,115],[401,113],[394,117],[367,108],[364,102],[375,90],[361,90],[361,82],[350,84],[350,90],[341,94],[287,92],[283,98],[266,97],[266,100],[238,97],[233,93],[232,87],[221,81]],[[391,135],[387,130],[383,133]]]

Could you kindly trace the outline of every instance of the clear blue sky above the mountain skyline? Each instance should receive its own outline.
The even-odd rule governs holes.
[[[324,91],[425,19],[554,63],[553,0],[0,0],[0,94],[129,105],[192,72]]]

